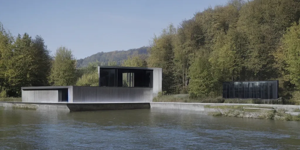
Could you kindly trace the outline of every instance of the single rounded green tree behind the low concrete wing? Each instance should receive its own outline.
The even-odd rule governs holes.
[[[64,46],[58,47],[52,62],[50,84],[54,86],[75,85],[76,80],[76,59],[72,51]]]

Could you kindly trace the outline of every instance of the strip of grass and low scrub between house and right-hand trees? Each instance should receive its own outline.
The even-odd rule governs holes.
[[[228,103],[228,104],[291,104],[295,101],[264,100],[264,99],[225,99],[217,98],[189,98],[188,95],[159,95],[153,98],[153,102],[177,102],[177,103]]]

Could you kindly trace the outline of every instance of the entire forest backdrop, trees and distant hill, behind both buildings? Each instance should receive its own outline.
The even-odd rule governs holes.
[[[276,79],[280,97],[300,99],[299,18],[298,0],[230,0],[170,24],[149,47],[80,60],[66,47],[50,56],[40,36],[14,38],[1,26],[1,96],[19,96],[21,86],[95,86],[98,65],[122,65],[163,68],[166,94],[216,97],[224,81]]]

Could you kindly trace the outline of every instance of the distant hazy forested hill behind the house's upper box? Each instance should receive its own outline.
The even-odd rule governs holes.
[[[117,65],[120,65],[122,61],[126,60],[128,56],[133,54],[147,54],[146,46],[128,49],[128,50],[116,50],[113,52],[98,52],[91,56],[77,60],[77,67],[87,66],[90,62],[99,61],[101,65],[107,65],[109,61],[116,61]]]

